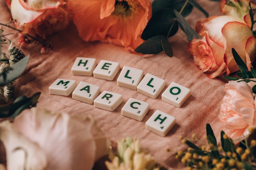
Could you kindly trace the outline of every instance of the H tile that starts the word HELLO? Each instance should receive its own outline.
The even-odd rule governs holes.
[[[75,62],[71,68],[73,75],[93,75],[97,63],[95,58],[76,57]]]

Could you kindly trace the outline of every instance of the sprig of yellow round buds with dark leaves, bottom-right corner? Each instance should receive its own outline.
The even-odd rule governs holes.
[[[253,131],[253,128],[249,127],[248,130]],[[244,141],[240,142],[240,146],[242,147],[236,147],[232,139],[222,131],[222,147],[218,147],[210,124],[207,124],[206,131],[207,135],[205,138],[209,143],[207,147],[202,144],[200,144],[201,147],[198,147],[189,139],[181,137],[182,143],[186,143],[189,148],[185,152],[178,151],[175,158],[179,159],[181,163],[185,164],[187,170],[253,170],[256,168],[256,140],[251,140],[249,146],[247,139],[245,139]],[[197,139],[195,134],[193,134],[192,138],[192,140]]]

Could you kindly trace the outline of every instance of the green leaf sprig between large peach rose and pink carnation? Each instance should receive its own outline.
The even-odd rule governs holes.
[[[236,77],[231,77],[224,75],[223,77],[232,80],[232,81],[238,81],[238,82],[256,82],[256,70],[251,67],[251,71],[248,70],[246,64],[243,62],[242,58],[238,55],[235,49],[232,48],[232,54],[234,56],[234,60],[236,61],[238,68],[240,69],[239,72],[236,73]],[[256,94],[256,85],[253,86],[253,93]]]

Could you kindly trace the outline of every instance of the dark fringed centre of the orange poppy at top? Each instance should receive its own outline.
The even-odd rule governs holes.
[[[138,2],[134,0],[116,0],[115,10],[112,14],[122,20],[128,20],[133,18],[134,14],[137,13],[137,6]]]

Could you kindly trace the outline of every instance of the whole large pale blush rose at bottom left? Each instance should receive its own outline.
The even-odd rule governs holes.
[[[0,123],[0,138],[5,148],[10,150],[6,153],[7,165],[12,167],[24,164],[24,154],[13,159],[13,147],[16,145],[27,151],[31,158],[26,163],[30,168],[25,169],[34,170],[89,170],[108,150],[109,142],[103,132],[93,119],[83,115],[33,107],[18,115],[8,132],[1,128],[6,122]]]

